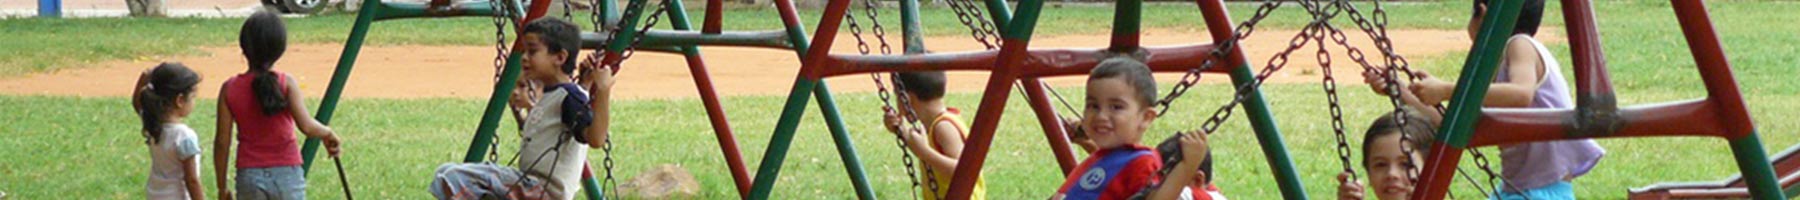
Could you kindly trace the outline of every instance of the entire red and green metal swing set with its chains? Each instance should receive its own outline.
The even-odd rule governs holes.
[[[1141,47],[1138,43],[1139,18],[1143,2],[1139,0],[1120,0],[1114,13],[1112,43],[1105,49],[1030,49],[1031,31],[1037,25],[1037,18],[1042,13],[1042,0],[1021,0],[1017,13],[1010,11],[1004,0],[983,0],[985,11],[997,31],[997,49],[976,50],[976,52],[932,52],[923,54],[925,47],[918,36],[918,2],[900,0],[900,18],[904,22],[904,43],[905,56],[841,56],[830,54],[830,43],[833,43],[839,34],[839,25],[846,20],[850,11],[850,0],[832,0],[826,4],[826,11],[819,20],[815,36],[806,38],[806,31],[799,22],[799,14],[790,0],[776,0],[778,13],[783,22],[783,31],[722,31],[722,0],[707,0],[707,16],[700,31],[693,31],[688,13],[680,0],[662,0],[646,16],[644,9],[650,7],[648,0],[630,0],[623,7],[623,16],[614,0],[596,0],[594,4],[594,32],[583,32],[583,49],[594,49],[590,52],[590,63],[594,67],[612,67],[616,72],[623,70],[619,63],[628,59],[632,50],[659,50],[659,52],[679,52],[688,59],[691,76],[695,76],[695,85],[700,92],[702,105],[707,110],[709,123],[713,124],[715,135],[718,137],[725,166],[729,168],[738,195],[743,198],[769,198],[774,191],[774,184],[781,173],[781,164],[787,157],[788,146],[796,137],[801,115],[805,115],[805,106],[808,101],[817,99],[821,115],[824,115],[826,126],[833,137],[839,155],[842,157],[846,173],[860,198],[875,198],[875,193],[862,171],[860,159],[857,157],[855,144],[850,142],[848,128],[841,115],[837,114],[837,105],[830,94],[830,88],[823,83],[823,77],[830,76],[851,76],[851,74],[873,74],[873,72],[902,72],[902,70],[988,70],[990,79],[983,92],[979,112],[972,123],[972,133],[967,141],[965,155],[956,168],[956,178],[950,180],[949,198],[967,198],[974,184],[974,177],[981,173],[983,162],[988,153],[988,146],[997,132],[1004,103],[1010,97],[1013,85],[1019,85],[1026,95],[1028,105],[1037,115],[1044,135],[1049,141],[1055,160],[1062,173],[1069,173],[1076,160],[1075,151],[1069,148],[1067,137],[1060,114],[1051,106],[1049,88],[1039,81],[1040,77],[1051,76],[1078,76],[1091,70],[1100,59],[1107,56],[1145,52],[1148,59],[1145,63],[1152,67],[1154,72],[1186,72],[1183,85],[1172,90],[1172,95],[1161,105],[1166,112],[1166,101],[1177,97],[1192,81],[1197,81],[1201,74],[1217,72],[1229,74],[1233,85],[1237,85],[1237,95],[1231,103],[1217,110],[1211,119],[1201,124],[1202,130],[1211,132],[1219,126],[1224,117],[1229,117],[1231,108],[1244,103],[1246,114],[1249,114],[1251,128],[1256,132],[1256,139],[1262,144],[1264,157],[1269,162],[1273,177],[1276,178],[1282,195],[1285,198],[1307,198],[1305,191],[1298,180],[1298,173],[1289,160],[1285,146],[1280,137],[1280,130],[1274,126],[1274,117],[1262,99],[1258,85],[1269,72],[1280,70],[1285,65],[1287,52],[1300,49],[1292,45],[1287,52],[1280,54],[1282,63],[1271,61],[1262,74],[1253,74],[1249,61],[1244,52],[1235,49],[1233,43],[1242,36],[1255,31],[1255,22],[1267,16],[1269,11],[1276,9],[1280,4],[1276,0],[1265,0],[1258,7],[1256,16],[1233,27],[1231,20],[1226,16],[1224,4],[1220,0],[1195,0],[1202,13],[1204,23],[1215,43],[1201,45],[1177,45],[1177,47]],[[1780,198],[1784,196],[1780,186],[1775,182],[1775,173],[1768,166],[1766,155],[1762,153],[1762,144],[1757,141],[1753,128],[1750,126],[1748,112],[1742,106],[1742,99],[1737,94],[1735,81],[1730,77],[1730,68],[1719,49],[1717,36],[1714,36],[1710,22],[1706,20],[1705,7],[1697,0],[1672,0],[1676,2],[1676,14],[1681,16],[1681,27],[1690,40],[1690,47],[1696,59],[1701,63],[1701,76],[1706,81],[1708,99],[1703,101],[1683,101],[1651,106],[1631,106],[1620,110],[1611,94],[1611,86],[1606,77],[1604,59],[1598,50],[1598,34],[1593,23],[1593,13],[1586,0],[1564,0],[1564,16],[1570,25],[1571,47],[1575,49],[1575,68],[1577,68],[1577,88],[1579,108],[1575,110],[1481,110],[1480,99],[1487,90],[1487,83],[1494,74],[1494,65],[1501,52],[1501,43],[1505,43],[1503,34],[1510,32],[1512,20],[1519,13],[1517,2],[1496,4],[1494,13],[1489,13],[1489,20],[1496,23],[1485,23],[1481,34],[1476,38],[1476,45],[1471,50],[1471,58],[1465,61],[1463,76],[1458,79],[1458,94],[1451,101],[1449,112],[1445,115],[1445,126],[1436,137],[1438,141],[1433,150],[1429,150],[1429,159],[1422,168],[1420,175],[1424,193],[1415,193],[1413,198],[1431,200],[1444,198],[1449,189],[1449,180],[1456,171],[1456,160],[1460,160],[1462,151],[1478,146],[1496,146],[1510,142],[1528,142],[1528,141],[1550,141],[1550,139],[1593,139],[1593,137],[1647,137],[1647,135],[1717,135],[1732,141],[1733,151],[1739,160],[1739,168],[1744,173],[1730,186],[1750,187],[1750,195],[1755,198]],[[490,95],[484,106],[484,115],[477,126],[477,135],[470,144],[470,150],[463,162],[482,162],[497,157],[493,153],[495,130],[499,128],[499,119],[504,115],[504,105],[518,86],[518,56],[506,54],[504,23],[513,22],[511,29],[518,29],[524,22],[542,18],[551,5],[551,0],[531,0],[529,4],[500,0],[500,2],[459,2],[450,4],[448,0],[434,0],[430,4],[401,4],[401,2],[380,2],[367,0],[364,9],[358,11],[356,23],[351,29],[351,36],[346,41],[344,56],[331,77],[326,97],[320,103],[317,119],[320,123],[329,123],[333,110],[342,95],[346,79],[355,65],[355,58],[360,45],[373,22],[380,20],[400,20],[400,18],[445,18],[445,16],[490,16],[495,18],[497,31],[497,52],[504,59],[497,58],[497,83],[493,95]],[[965,5],[974,7],[972,2],[963,0]],[[1346,2],[1300,2],[1314,14],[1314,23],[1309,23],[1307,31],[1296,34],[1298,41],[1314,40],[1321,45],[1325,43],[1327,32],[1332,32],[1332,40],[1343,45],[1341,32],[1328,25],[1328,18],[1336,13],[1327,11],[1327,7],[1348,7]],[[529,5],[529,7],[520,7]],[[873,9],[873,7],[869,7]],[[1350,9],[1350,16],[1359,16]],[[675,31],[655,31],[650,29],[657,23],[661,14],[668,14],[668,20]],[[1377,4],[1377,13],[1379,4]],[[565,16],[567,18],[567,16]],[[639,20],[646,20],[644,25]],[[853,16],[850,16],[853,18]],[[873,18],[873,16],[871,16]],[[1325,18],[1325,20],[1319,20]],[[851,22],[855,23],[855,22]],[[968,22],[965,22],[967,25]],[[1384,23],[1384,20],[1382,20]],[[1361,23],[1359,23],[1361,25]],[[1246,29],[1247,27],[1247,29]],[[972,27],[974,29],[974,27]],[[1370,27],[1363,27],[1370,31]],[[1384,27],[1381,27],[1384,31]],[[877,29],[880,31],[880,29]],[[1372,32],[1372,31],[1370,31]],[[981,32],[976,32],[981,40]],[[1386,40],[1386,36],[1377,36],[1377,41]],[[983,40],[986,41],[986,40]],[[792,49],[801,59],[801,70],[796,77],[794,88],[783,105],[781,117],[776,126],[776,133],[769,142],[769,150],[761,159],[758,168],[758,177],[751,177],[742,153],[738,153],[736,139],[733,137],[731,126],[725,121],[725,112],[720,106],[718,95],[713,90],[711,77],[706,72],[706,65],[700,59],[700,45],[731,45],[731,47],[765,47],[765,49]],[[823,47],[821,47],[823,45]],[[884,41],[886,45],[886,41]],[[511,47],[518,47],[515,41]],[[1323,47],[1321,47],[1323,52]],[[1355,52],[1361,54],[1361,52]],[[1388,70],[1395,65],[1391,63],[1391,43],[1382,49],[1388,54]],[[1364,67],[1372,67],[1361,61]],[[1402,61],[1404,63],[1404,61]],[[1226,65],[1226,67],[1217,67]],[[1328,67],[1328,63],[1321,63]],[[1399,65],[1404,67],[1404,65]],[[587,68],[587,67],[585,67]],[[587,72],[587,70],[583,70]],[[1325,70],[1330,72],[1330,70]],[[1327,76],[1328,77],[1328,76]],[[1393,79],[1393,77],[1390,77]],[[1327,79],[1328,81],[1328,79]],[[1391,85],[1391,83],[1390,83]],[[529,90],[529,88],[527,88]],[[1334,86],[1327,88],[1328,92]],[[1334,92],[1332,92],[1334,94]],[[808,97],[810,95],[810,97]],[[1058,97],[1060,99],[1060,97]],[[1336,99],[1336,95],[1332,95]],[[1336,110],[1336,105],[1334,105]],[[515,110],[517,112],[517,110]],[[1334,112],[1336,114],[1336,112]],[[1651,115],[1654,114],[1654,115]],[[1627,117],[1629,115],[1629,117]],[[1717,119],[1714,119],[1717,117]],[[1339,121],[1341,123],[1341,121]],[[1341,126],[1341,124],[1339,124]],[[1490,137],[1492,133],[1476,130],[1494,130],[1492,126],[1514,126],[1510,130],[1523,130],[1528,133],[1517,133],[1508,137]],[[1339,146],[1343,146],[1339,130]],[[610,141],[608,141],[610,142]],[[311,166],[311,159],[317,153],[319,141],[308,139],[302,155],[306,159],[304,168]],[[484,157],[493,155],[493,157]],[[1791,155],[1791,153],[1784,153]],[[1478,155],[1480,157],[1480,155]],[[1782,159],[1793,160],[1793,159]],[[1348,160],[1346,168],[1348,168]],[[1780,162],[1786,164],[1786,162]],[[1795,164],[1786,164],[1782,171],[1795,171]],[[607,160],[607,178],[610,180],[610,148]],[[1485,168],[1485,166],[1483,166]],[[1791,173],[1784,173],[1793,178]],[[1058,175],[1060,177],[1060,175]],[[1492,177],[1492,175],[1490,175]],[[754,182],[752,182],[754,180]],[[1748,184],[1746,184],[1748,182]],[[1787,180],[1793,182],[1793,180]],[[914,180],[916,184],[916,180]],[[583,173],[583,186],[589,198],[603,198],[599,182],[590,171]],[[1796,189],[1789,187],[1789,195]]]

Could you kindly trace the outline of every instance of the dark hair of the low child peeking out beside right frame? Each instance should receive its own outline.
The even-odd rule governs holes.
[[[1399,121],[1402,119],[1400,112],[1404,112],[1406,126],[1400,126]],[[1431,124],[1431,121],[1426,121],[1424,114],[1415,112],[1411,108],[1400,112],[1388,112],[1381,115],[1381,119],[1375,119],[1375,123],[1368,124],[1368,132],[1363,133],[1364,164],[1368,164],[1368,148],[1375,146],[1375,137],[1406,133],[1408,137],[1411,137],[1413,142],[1413,146],[1408,148],[1417,150],[1415,153],[1424,153],[1424,150],[1431,146],[1431,141],[1436,137],[1438,132],[1436,124]]]

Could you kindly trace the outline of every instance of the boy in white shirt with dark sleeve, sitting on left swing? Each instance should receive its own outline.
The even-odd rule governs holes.
[[[581,169],[587,150],[607,141],[608,90],[612,72],[592,70],[587,83],[599,83],[596,95],[574,83],[580,54],[580,27],[544,18],[526,23],[515,54],[524,54],[524,79],[547,85],[535,103],[513,99],[526,108],[526,126],[520,132],[518,166],[497,164],[443,164],[436,171],[430,193],[439,200],[475,198],[549,198],[572,200],[581,189]],[[589,103],[589,97],[596,97]],[[596,112],[598,110],[598,112]],[[583,148],[585,144],[587,148]]]

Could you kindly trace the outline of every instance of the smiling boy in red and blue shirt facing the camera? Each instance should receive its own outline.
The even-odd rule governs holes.
[[[1156,79],[1150,68],[1129,58],[1111,58],[1100,61],[1087,76],[1087,110],[1082,114],[1082,132],[1093,139],[1098,151],[1069,173],[1055,200],[1125,200],[1138,191],[1157,186],[1163,159],[1150,148],[1138,144],[1143,132],[1150,128],[1157,114]],[[1184,133],[1181,137],[1183,162],[1170,173],[1170,180],[1192,180],[1199,162],[1206,155],[1204,133]],[[1152,198],[1166,200],[1179,195],[1184,184],[1166,184],[1154,187]]]

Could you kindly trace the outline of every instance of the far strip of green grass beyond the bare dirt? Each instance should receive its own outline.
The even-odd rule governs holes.
[[[1442,22],[1435,14],[1456,11],[1451,4],[1408,4],[1390,5],[1395,27],[1449,29],[1456,23]],[[693,20],[704,11],[700,5],[689,7]],[[1201,27],[1199,9],[1192,4],[1152,4],[1145,7],[1147,29],[1197,29]],[[898,9],[886,9],[882,20],[889,32],[898,34]],[[1251,4],[1231,4],[1233,16],[1247,18]],[[1402,13],[1415,13],[1402,14]],[[781,29],[774,7],[736,7],[727,9],[725,29],[763,31]],[[821,11],[801,11],[806,29],[817,29]],[[1265,27],[1292,29],[1305,23],[1301,11],[1289,7],[1278,11]],[[585,14],[576,16],[578,23],[590,27]],[[922,22],[932,36],[967,36],[968,29],[958,23],[956,14],[947,7],[922,9]],[[1102,20],[1105,18],[1105,20]],[[1098,34],[1111,31],[1112,7],[1066,5],[1051,7],[1039,22],[1039,36],[1055,34]],[[293,43],[342,43],[349,36],[353,13],[319,14],[288,18],[288,34]],[[196,47],[234,45],[241,18],[0,18],[0,77],[32,72],[50,72],[61,68],[83,68],[108,59],[151,59],[153,56],[200,54]],[[700,23],[700,22],[693,22]],[[668,22],[661,23],[668,29]],[[493,45],[493,23],[490,18],[437,18],[437,20],[392,20],[376,22],[369,34],[369,45]],[[808,32],[812,34],[812,32]]]

